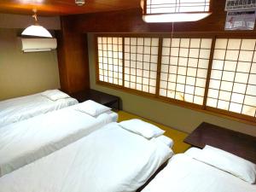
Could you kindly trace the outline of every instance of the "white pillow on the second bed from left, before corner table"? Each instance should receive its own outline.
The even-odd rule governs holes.
[[[94,117],[98,116],[101,113],[105,113],[110,109],[111,108],[108,108],[100,103],[97,103],[91,100],[87,100],[86,102],[79,103],[76,108],[76,110],[83,113],[90,114],[91,116],[94,116]]]

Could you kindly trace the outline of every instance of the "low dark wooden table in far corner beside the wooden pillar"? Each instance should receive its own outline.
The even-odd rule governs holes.
[[[79,102],[86,100],[93,100],[108,106],[109,108],[120,109],[120,102],[118,96],[109,95],[98,90],[83,90],[77,93],[70,94],[73,98],[76,98]]]

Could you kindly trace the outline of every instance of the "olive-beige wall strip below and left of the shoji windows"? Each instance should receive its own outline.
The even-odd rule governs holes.
[[[241,131],[256,137],[256,126],[243,124],[231,119],[224,119],[208,113],[201,113],[188,108],[177,107],[165,102],[157,102],[143,96],[136,96],[127,92],[109,89],[96,84],[95,75],[95,46],[93,33],[88,34],[90,60],[90,88],[101,90],[119,96],[123,102],[123,110],[152,119],[158,123],[168,125],[180,131],[191,132],[201,122],[223,126],[234,131]]]

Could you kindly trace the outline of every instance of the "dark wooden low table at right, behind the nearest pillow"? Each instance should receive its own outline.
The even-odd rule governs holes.
[[[236,154],[246,160],[256,162],[256,137],[208,123],[201,123],[195,131],[184,139],[184,143],[197,148],[211,145]]]

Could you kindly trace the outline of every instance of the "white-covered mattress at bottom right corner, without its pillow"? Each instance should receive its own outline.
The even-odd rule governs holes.
[[[256,185],[246,183],[228,172],[192,159],[191,153],[176,154],[143,192],[255,192]]]

